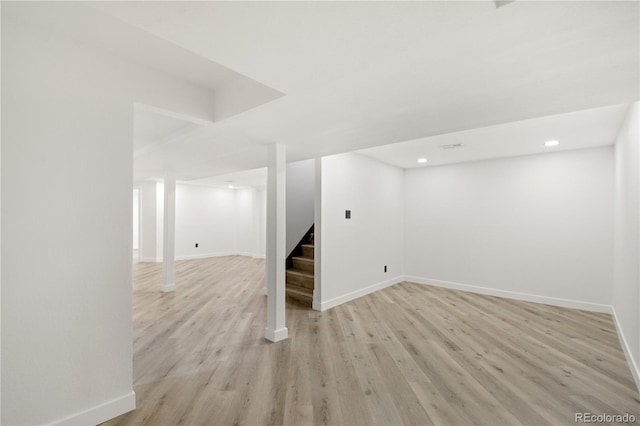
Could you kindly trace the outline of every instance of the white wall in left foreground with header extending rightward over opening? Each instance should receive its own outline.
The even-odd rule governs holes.
[[[32,28],[38,7],[2,4],[2,424],[95,424],[135,405],[133,103],[210,117],[212,92]]]

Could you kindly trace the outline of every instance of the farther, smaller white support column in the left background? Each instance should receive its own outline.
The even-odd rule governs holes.
[[[162,288],[163,292],[176,289],[176,178],[164,179],[164,226],[162,245]]]

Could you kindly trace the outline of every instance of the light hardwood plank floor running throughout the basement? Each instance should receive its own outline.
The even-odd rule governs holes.
[[[264,261],[134,265],[138,409],[107,425],[571,425],[640,400],[609,315],[401,283],[264,338]],[[638,424],[638,421],[636,421]]]

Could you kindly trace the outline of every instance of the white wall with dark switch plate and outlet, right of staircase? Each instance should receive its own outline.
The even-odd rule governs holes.
[[[322,159],[321,174],[322,300],[314,307],[324,310],[401,279],[403,171],[340,154]]]

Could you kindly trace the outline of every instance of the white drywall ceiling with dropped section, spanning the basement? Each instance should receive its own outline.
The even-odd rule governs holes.
[[[264,167],[273,142],[296,161],[411,141],[368,151],[397,164],[442,138],[467,146],[423,154],[430,164],[536,152],[534,135],[550,128],[562,131],[560,149],[610,144],[624,107],[599,109],[639,98],[635,1],[79,3],[30,7],[132,60],[136,46],[169,52],[143,57],[213,87],[232,112],[186,128],[171,114],[157,128],[162,117],[136,116],[146,122],[137,179]],[[207,82],[212,67],[242,82]],[[246,91],[250,102],[233,105]]]

